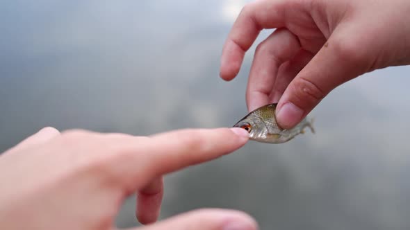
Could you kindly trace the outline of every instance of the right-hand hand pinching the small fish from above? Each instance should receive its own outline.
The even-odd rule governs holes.
[[[247,85],[249,111],[278,102],[294,127],[331,90],[363,73],[410,64],[408,0],[260,0],[249,3],[224,44],[220,76],[235,78],[264,28]]]

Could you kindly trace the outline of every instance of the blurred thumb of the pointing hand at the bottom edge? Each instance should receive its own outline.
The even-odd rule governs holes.
[[[240,211],[203,209],[134,230],[256,230],[256,222]],[[131,229],[130,229],[131,230]]]

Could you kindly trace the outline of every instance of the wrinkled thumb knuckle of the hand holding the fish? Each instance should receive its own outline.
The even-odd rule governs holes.
[[[296,78],[293,87],[297,105],[316,105],[326,96],[325,91],[318,84],[307,78]]]

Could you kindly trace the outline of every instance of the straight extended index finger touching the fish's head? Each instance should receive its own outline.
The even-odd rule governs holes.
[[[210,161],[245,145],[248,133],[239,128],[177,130],[156,134],[145,145],[153,175],[163,175]]]

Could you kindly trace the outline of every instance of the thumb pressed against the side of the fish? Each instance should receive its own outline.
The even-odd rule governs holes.
[[[280,127],[295,127],[331,90],[372,68],[376,55],[369,48],[371,41],[354,31],[335,30],[311,62],[290,82],[277,106]]]

